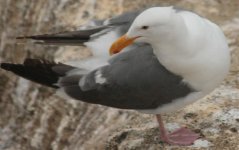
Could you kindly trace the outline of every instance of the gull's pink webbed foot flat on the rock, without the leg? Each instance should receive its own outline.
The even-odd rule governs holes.
[[[199,138],[199,135],[193,131],[180,128],[166,136],[161,136],[161,140],[171,145],[192,145]]]

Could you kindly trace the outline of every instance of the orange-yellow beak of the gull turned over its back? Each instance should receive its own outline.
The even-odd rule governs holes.
[[[137,38],[139,37],[128,38],[126,35],[121,36],[111,45],[110,55],[119,53],[122,49],[131,45]]]

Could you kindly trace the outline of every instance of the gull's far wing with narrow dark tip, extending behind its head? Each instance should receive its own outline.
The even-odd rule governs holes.
[[[140,12],[128,12],[107,20],[92,20],[76,31],[21,36],[17,39],[33,39],[37,44],[82,46],[85,42],[100,38],[110,31],[117,32],[119,36],[125,34]]]

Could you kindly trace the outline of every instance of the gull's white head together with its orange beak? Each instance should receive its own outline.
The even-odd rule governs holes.
[[[128,32],[111,47],[115,54],[133,42],[154,43],[172,40],[176,28],[180,28],[180,18],[173,7],[153,7],[136,17]]]

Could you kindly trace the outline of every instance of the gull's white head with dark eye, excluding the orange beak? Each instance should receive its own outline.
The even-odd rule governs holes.
[[[142,12],[133,22],[127,36],[139,37],[136,41],[150,42],[155,36],[168,34],[175,18],[172,7],[153,7]]]

